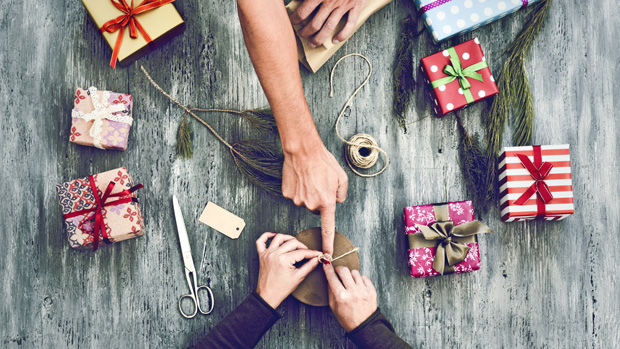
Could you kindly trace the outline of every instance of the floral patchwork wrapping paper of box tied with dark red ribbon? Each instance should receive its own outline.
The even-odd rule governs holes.
[[[133,178],[124,167],[93,175],[93,178],[100,198],[110,181],[116,183],[112,194],[127,190],[134,185]],[[63,215],[95,206],[95,197],[88,177],[58,184],[56,190]],[[144,235],[144,220],[137,202],[136,192],[133,192],[131,196],[134,198],[132,202],[103,208],[103,223],[109,238],[106,241],[103,235],[99,233],[100,242],[115,243]],[[71,247],[81,250],[92,248],[94,239],[92,214],[86,213],[65,219],[65,227]]]

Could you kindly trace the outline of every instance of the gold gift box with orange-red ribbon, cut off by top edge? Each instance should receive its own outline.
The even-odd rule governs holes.
[[[178,35],[185,22],[174,0],[82,0],[112,48],[110,65],[126,66]],[[134,6],[135,5],[135,6]]]

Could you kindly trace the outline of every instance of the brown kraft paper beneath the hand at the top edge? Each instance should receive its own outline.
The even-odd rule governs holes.
[[[353,34],[372,16],[375,12],[379,11],[385,5],[392,2],[392,0],[366,0],[366,4],[364,8],[360,12],[360,16],[357,19],[357,24],[355,25],[355,29],[353,30]],[[286,10],[289,14],[295,12],[295,10],[301,5],[301,1],[293,0],[287,6]],[[346,24],[346,16],[340,20],[340,23],[336,26],[336,29],[329,34],[327,39],[323,45],[318,46],[316,48],[312,48],[308,46],[308,40],[297,35],[297,31],[301,30],[306,23],[302,22],[298,25],[294,25],[293,29],[295,29],[295,38],[297,39],[297,54],[299,56],[299,61],[306,68],[308,68],[311,72],[316,73],[328,59],[330,59],[338,49],[347,42],[348,38],[344,41],[339,42],[338,44],[333,43],[334,36],[339,33],[344,25]]]

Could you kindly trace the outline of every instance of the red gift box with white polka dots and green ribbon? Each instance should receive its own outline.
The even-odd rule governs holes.
[[[478,38],[422,58],[420,69],[438,117],[498,93]]]

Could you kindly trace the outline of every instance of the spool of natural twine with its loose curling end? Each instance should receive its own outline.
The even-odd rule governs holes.
[[[344,60],[347,57],[351,57],[351,56],[358,56],[358,57],[363,58],[368,64],[369,71],[368,71],[368,75],[366,76],[366,80],[364,80],[364,82],[362,82],[362,84],[357,87],[357,89],[355,90],[355,92],[353,92],[353,94],[351,94],[347,102],[344,104],[344,107],[340,111],[340,114],[338,115],[338,118],[336,119],[336,135],[338,136],[338,138],[340,138],[340,140],[343,143],[346,144],[345,159],[351,171],[353,171],[356,175],[360,177],[366,177],[366,178],[375,177],[381,174],[383,171],[385,171],[385,169],[387,169],[388,164],[390,162],[390,158],[388,157],[387,153],[379,147],[379,144],[377,143],[377,141],[369,134],[359,133],[359,134],[353,135],[353,137],[351,137],[349,140],[346,140],[340,135],[340,131],[338,129],[340,119],[342,118],[342,115],[344,115],[345,111],[347,110],[347,107],[351,104],[351,101],[353,100],[353,98],[355,98],[355,95],[357,95],[357,93],[368,83],[368,80],[370,80],[370,75],[372,75],[372,64],[370,63],[368,58],[366,58],[365,56],[359,53],[350,53],[340,58],[336,62],[336,64],[334,64],[334,66],[332,67],[332,71],[329,75],[329,87],[330,87],[329,97],[334,97],[334,70],[336,70],[336,67],[342,60]],[[383,154],[383,156],[385,157],[385,164],[383,165],[383,168],[381,170],[375,173],[370,173],[370,174],[360,173],[359,171],[356,170],[356,168],[367,169],[367,168],[371,168],[372,166],[374,166],[377,163],[377,160],[379,159],[379,153]]]

